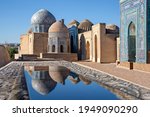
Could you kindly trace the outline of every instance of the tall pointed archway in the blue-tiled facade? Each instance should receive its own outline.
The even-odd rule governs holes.
[[[136,61],[136,27],[133,22],[128,27],[128,57],[129,62]]]

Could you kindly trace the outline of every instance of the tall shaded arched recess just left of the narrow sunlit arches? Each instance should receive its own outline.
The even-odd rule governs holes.
[[[84,35],[81,35],[80,38],[80,59],[85,60],[86,59],[86,45],[85,45],[85,37]]]

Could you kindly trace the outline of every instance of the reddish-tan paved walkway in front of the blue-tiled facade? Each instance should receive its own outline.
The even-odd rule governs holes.
[[[126,68],[116,67],[116,64],[98,64],[94,62],[76,62],[77,64],[88,66],[92,69],[100,70],[112,76],[118,77],[134,84],[150,89],[150,73]]]

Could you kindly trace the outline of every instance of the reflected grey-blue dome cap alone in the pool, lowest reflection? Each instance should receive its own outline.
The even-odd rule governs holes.
[[[32,87],[40,94],[46,95],[56,87],[56,82],[52,79],[35,80],[32,79]]]

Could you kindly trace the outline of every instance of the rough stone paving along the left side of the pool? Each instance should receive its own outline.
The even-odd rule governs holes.
[[[28,99],[20,62],[11,62],[0,68],[0,100],[7,99]]]

